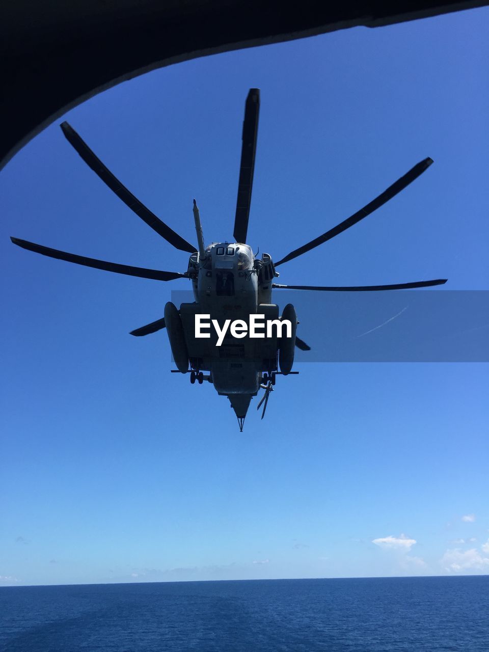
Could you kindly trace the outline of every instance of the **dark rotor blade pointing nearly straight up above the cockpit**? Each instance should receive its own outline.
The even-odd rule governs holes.
[[[238,198],[234,220],[234,239],[246,243],[250,215],[251,190],[255,169],[256,136],[258,134],[259,89],[252,88],[246,98],[243,122],[243,145],[239,168]]]

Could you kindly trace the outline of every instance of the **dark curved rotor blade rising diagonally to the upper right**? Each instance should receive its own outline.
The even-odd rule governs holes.
[[[432,158],[428,157],[417,163],[414,168],[411,168],[409,172],[407,172],[403,177],[400,177],[400,179],[393,183],[393,185],[389,186],[387,190],[384,190],[384,192],[379,194],[379,196],[376,197],[373,201],[370,201],[370,203],[357,211],[357,213],[353,213],[353,215],[349,216],[349,218],[343,222],[340,222],[340,224],[335,226],[333,229],[326,231],[326,233],[323,233],[323,235],[319,235],[319,237],[317,237],[315,240],[310,241],[310,243],[304,244],[298,249],[293,250],[287,254],[285,258],[279,260],[278,263],[274,263],[275,267],[277,265],[282,265],[282,263],[287,263],[289,260],[297,258],[297,256],[302,256],[311,249],[314,249],[314,247],[319,246],[319,244],[323,244],[327,240],[331,240],[331,238],[334,238],[334,236],[338,235],[338,233],[346,231],[350,228],[350,226],[353,226],[353,224],[357,224],[357,222],[363,220],[364,217],[376,211],[379,207],[385,204],[386,201],[391,200],[394,196],[396,196],[396,194],[401,192],[401,190],[404,190],[406,186],[408,186],[412,181],[417,179],[419,175],[427,170],[432,162]]]

